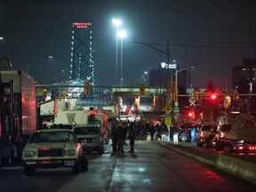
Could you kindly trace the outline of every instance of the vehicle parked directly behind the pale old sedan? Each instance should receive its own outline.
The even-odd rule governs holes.
[[[84,152],[98,151],[104,153],[104,140],[100,132],[100,124],[77,125],[74,128],[76,137],[82,143]]]

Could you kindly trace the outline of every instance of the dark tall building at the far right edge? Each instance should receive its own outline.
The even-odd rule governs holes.
[[[244,59],[243,65],[233,68],[233,88],[239,93],[256,92],[256,60]]]

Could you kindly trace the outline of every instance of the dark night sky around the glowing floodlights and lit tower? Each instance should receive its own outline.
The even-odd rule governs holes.
[[[113,84],[115,30],[111,19],[124,20],[125,84],[140,81],[142,71],[156,68],[165,56],[132,41],[164,49],[180,68],[196,66],[193,84],[231,85],[232,67],[256,56],[254,0],[0,0],[0,56],[14,60],[14,68],[28,70],[39,83],[65,79],[70,64],[71,23],[91,21],[97,84]],[[48,56],[52,55],[53,60]]]

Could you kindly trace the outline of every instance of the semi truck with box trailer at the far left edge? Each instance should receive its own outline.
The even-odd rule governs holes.
[[[26,72],[0,71],[0,164],[19,162],[36,132],[36,82]]]

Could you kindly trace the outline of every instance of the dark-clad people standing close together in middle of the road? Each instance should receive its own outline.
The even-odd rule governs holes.
[[[129,121],[116,121],[111,129],[113,155],[124,155],[124,145],[129,139],[129,151],[134,153],[135,125]]]

